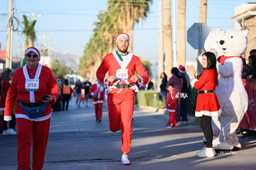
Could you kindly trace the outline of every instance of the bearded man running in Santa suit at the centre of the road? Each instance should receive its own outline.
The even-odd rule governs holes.
[[[126,33],[117,35],[117,51],[107,54],[96,72],[97,79],[108,84],[109,129],[112,132],[122,129],[122,164],[130,164],[127,154],[132,140],[134,91],[139,90],[136,82],[148,83],[148,73],[142,61],[127,51],[129,40]],[[134,75],[135,70],[138,76]]]

